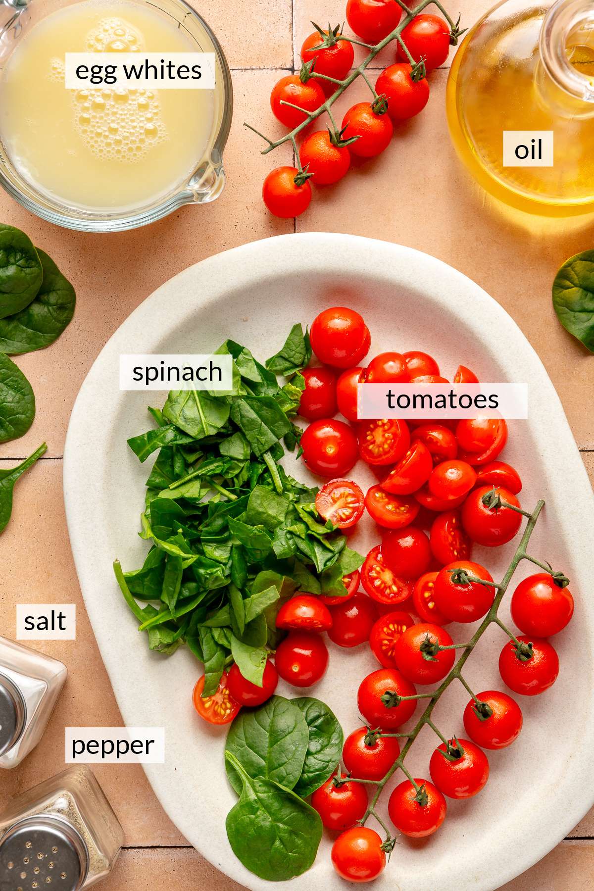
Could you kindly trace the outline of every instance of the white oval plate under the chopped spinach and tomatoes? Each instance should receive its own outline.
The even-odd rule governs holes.
[[[452,379],[459,363],[482,380],[527,381],[530,419],[510,423],[503,457],[524,479],[521,495],[532,509],[546,508],[531,551],[571,578],[574,622],[555,646],[561,673],[541,697],[520,698],[524,730],[517,743],[489,753],[491,778],[468,802],[451,802],[443,828],[411,843],[399,838],[375,887],[391,891],[491,889],[517,876],[557,845],[594,803],[591,753],[594,601],[590,567],[594,502],[582,459],[541,361],[516,323],[474,282],[434,257],[382,241],[325,233],[284,235],[229,250],[191,266],[147,298],[102,349],[77,397],[64,454],[64,494],[72,550],[85,606],[129,726],[166,728],[166,764],[145,766],[161,804],[200,854],[248,888],[269,888],[234,857],[224,820],[235,796],[223,765],[224,731],[202,722],[191,706],[201,666],[188,650],[163,658],[146,638],[118,591],[111,563],[142,564],[146,543],[136,535],[149,473],[126,438],[151,428],[147,405],[165,394],[120,392],[120,353],[208,353],[227,337],[264,359],[285,339],[290,325],[311,323],[323,307],[358,309],[372,335],[370,355],[419,348],[434,354]],[[291,472],[305,478],[292,458]],[[357,467],[355,477],[372,477]],[[377,544],[371,524],[354,546]],[[476,549],[492,575],[502,575],[513,545]],[[517,580],[530,575],[525,563]],[[505,618],[508,608],[504,607]],[[452,625],[454,640],[468,627]],[[497,660],[504,643],[492,626],[468,660],[476,691],[501,688]],[[330,644],[328,674],[312,695],[328,702],[345,732],[359,723],[356,690],[377,668],[369,648],[340,650]],[[281,684],[284,695],[300,695]],[[451,688],[435,709],[447,735],[462,734],[468,695]],[[410,754],[415,776],[427,777],[437,743],[426,727]],[[401,778],[402,779],[402,778]],[[371,825],[371,823],[370,823]],[[325,838],[311,871],[294,879],[302,891],[344,891],[330,864]]]

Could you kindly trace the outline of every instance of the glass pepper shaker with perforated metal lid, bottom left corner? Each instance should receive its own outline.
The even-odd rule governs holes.
[[[93,772],[70,767],[0,813],[0,891],[81,891],[110,873],[123,842]]]

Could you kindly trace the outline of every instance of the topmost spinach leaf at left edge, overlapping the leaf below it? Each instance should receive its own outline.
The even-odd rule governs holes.
[[[28,307],[43,277],[30,238],[20,229],[0,223],[0,319]]]

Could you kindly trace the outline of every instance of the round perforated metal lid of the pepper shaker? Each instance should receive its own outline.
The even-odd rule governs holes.
[[[28,817],[0,841],[0,891],[78,891],[87,868],[85,842],[60,817]]]

